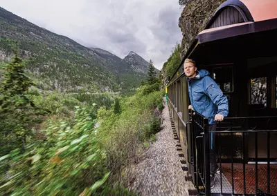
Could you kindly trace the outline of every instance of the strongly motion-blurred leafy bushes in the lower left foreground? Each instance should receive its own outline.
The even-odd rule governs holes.
[[[26,153],[12,150],[1,157],[9,164],[1,193],[12,195],[90,195],[109,177],[105,153],[93,128],[96,110],[76,107],[74,124],[49,121],[46,141],[30,144]],[[4,161],[8,159],[8,161]]]

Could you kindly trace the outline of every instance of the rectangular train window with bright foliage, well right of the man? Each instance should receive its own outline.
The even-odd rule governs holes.
[[[267,106],[267,77],[250,79],[250,104]]]

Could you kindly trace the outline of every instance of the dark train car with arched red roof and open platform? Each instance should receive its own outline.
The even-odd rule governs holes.
[[[205,195],[277,195],[277,1],[228,0],[199,32],[168,83],[168,105],[188,172]],[[208,118],[188,110],[185,59],[205,69],[229,101],[217,123],[211,189]]]

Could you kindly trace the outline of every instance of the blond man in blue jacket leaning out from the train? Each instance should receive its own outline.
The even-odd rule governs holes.
[[[188,81],[188,95],[190,98],[190,106],[204,117],[211,117],[208,120],[209,130],[216,130],[216,121],[223,121],[229,113],[228,99],[223,95],[222,90],[209,77],[207,70],[197,70],[197,66],[193,59],[184,61],[184,72]],[[211,188],[215,184],[215,173],[219,173],[215,155],[215,134],[211,133],[210,146],[210,175]]]

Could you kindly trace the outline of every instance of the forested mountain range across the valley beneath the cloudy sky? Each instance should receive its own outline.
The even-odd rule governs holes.
[[[28,75],[38,88],[75,92],[134,90],[145,77],[146,61],[139,55],[129,61],[100,48],[87,48],[68,37],[57,35],[0,7],[0,61],[12,55],[17,43],[20,57],[28,59]],[[143,68],[139,68],[139,66]]]

